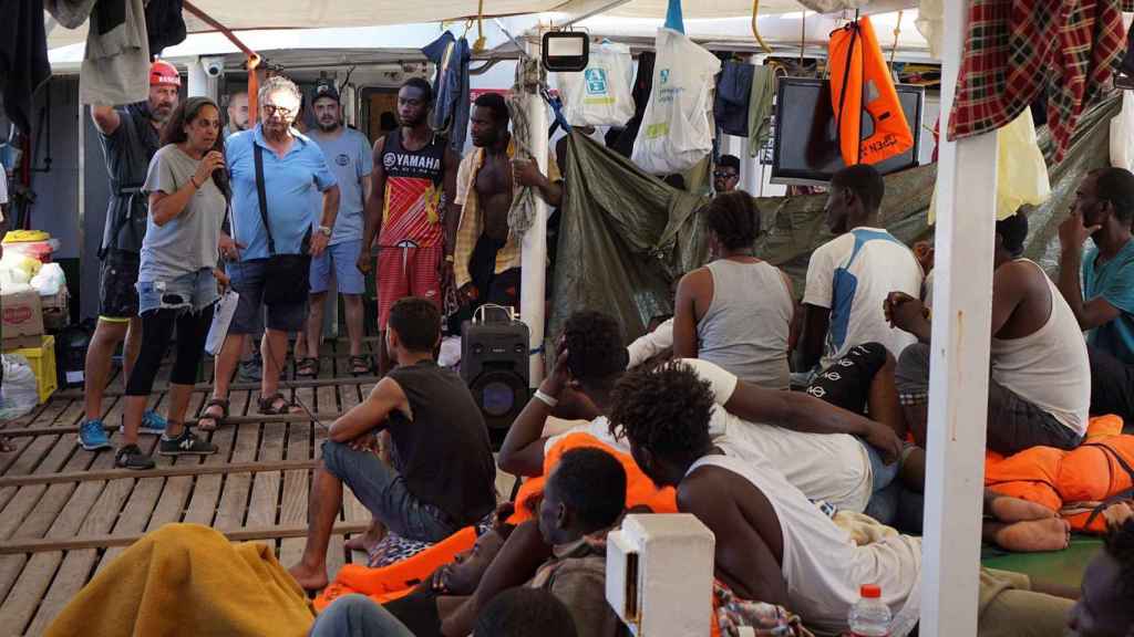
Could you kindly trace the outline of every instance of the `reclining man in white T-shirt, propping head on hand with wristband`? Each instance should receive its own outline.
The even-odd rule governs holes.
[[[886,363],[885,350],[878,349]],[[574,399],[578,394],[596,410],[587,416],[593,421],[576,431],[628,451],[623,441],[611,438],[607,419],[616,407],[610,392],[626,373],[626,359],[621,333],[612,317],[598,312],[575,313],[564,328],[552,374],[508,431],[498,459],[500,468],[524,476],[542,474],[545,449],[557,442],[543,438],[547,418],[553,408],[556,415],[566,417],[559,410],[567,400],[578,402]],[[895,460],[908,453],[887,425],[806,393],[739,381],[706,360],[685,362],[711,383],[716,399],[712,435],[728,433],[748,441],[759,458],[767,458],[809,498],[863,512],[873,494],[895,479]],[[882,366],[870,373],[879,368]],[[864,384],[870,385],[870,379]],[[865,400],[863,397],[860,402]],[[872,411],[880,409],[872,405]]]

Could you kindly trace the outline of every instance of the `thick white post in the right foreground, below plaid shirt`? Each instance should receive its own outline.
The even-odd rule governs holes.
[[[924,637],[976,635],[988,419],[996,134],[946,141],[971,0],[945,3],[941,145],[937,173],[925,534]]]

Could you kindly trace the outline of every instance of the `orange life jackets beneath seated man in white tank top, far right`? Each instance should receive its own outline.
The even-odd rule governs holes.
[[[1101,503],[1129,498],[1134,489],[1134,435],[1122,430],[1122,418],[1101,416],[1091,418],[1086,440],[1070,451],[1034,447],[1008,458],[990,451],[984,486],[1056,511],[1082,503],[1083,509],[1063,513],[1072,528],[1106,533]]]

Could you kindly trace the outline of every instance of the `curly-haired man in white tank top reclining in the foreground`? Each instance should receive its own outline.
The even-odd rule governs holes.
[[[610,418],[637,465],[659,485],[675,486],[678,509],[713,532],[716,576],[738,596],[784,605],[806,626],[840,634],[849,628],[858,587],[872,583],[896,625],[908,618],[912,626],[920,610],[921,541],[892,535],[855,545],[767,460],[753,461],[728,436],[711,439],[712,391],[687,365],[627,374],[612,404]],[[987,502],[988,512],[1002,519],[1030,517],[1038,507],[1010,498]],[[985,570],[981,579],[979,635],[1060,634],[1069,600],[1023,594],[1032,586],[1026,576]],[[1008,598],[1006,589],[1019,594]],[[985,623],[988,609],[998,611],[995,623]]]

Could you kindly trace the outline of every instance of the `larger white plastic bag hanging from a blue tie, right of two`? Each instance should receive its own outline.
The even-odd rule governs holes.
[[[653,91],[632,160],[653,175],[685,172],[712,152],[712,90],[720,60],[683,33],[658,29]]]

